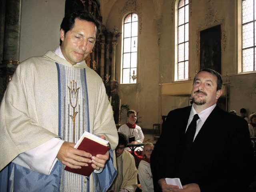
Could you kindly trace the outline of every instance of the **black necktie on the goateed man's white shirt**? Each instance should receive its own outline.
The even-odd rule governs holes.
[[[193,117],[192,122],[189,124],[188,129],[185,133],[185,139],[184,139],[184,152],[186,152],[187,150],[189,150],[189,148],[191,147],[193,140],[194,140],[194,136],[196,133],[196,121],[199,119],[198,114],[195,114]]]

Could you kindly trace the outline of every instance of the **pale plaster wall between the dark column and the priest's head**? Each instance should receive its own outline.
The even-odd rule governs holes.
[[[54,50],[60,44],[65,0],[23,0],[20,62]]]

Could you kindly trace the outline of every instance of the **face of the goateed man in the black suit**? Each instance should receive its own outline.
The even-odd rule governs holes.
[[[217,77],[213,74],[202,71],[196,74],[191,97],[194,104],[206,106],[214,105],[221,96],[222,90],[217,91]]]

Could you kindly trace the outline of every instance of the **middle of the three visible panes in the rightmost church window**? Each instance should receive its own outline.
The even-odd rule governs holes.
[[[242,48],[253,46],[253,23],[246,24],[242,27]]]

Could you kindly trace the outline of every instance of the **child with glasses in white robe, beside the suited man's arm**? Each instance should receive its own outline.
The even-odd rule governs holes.
[[[153,150],[154,145],[152,143],[146,143],[144,145],[143,158],[138,167],[142,192],[154,192],[153,178],[150,168],[150,156]]]

